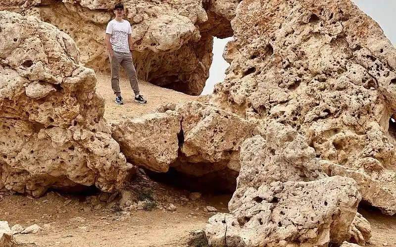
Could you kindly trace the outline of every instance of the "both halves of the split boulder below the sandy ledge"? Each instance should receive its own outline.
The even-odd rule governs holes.
[[[133,164],[153,171],[170,167],[196,177],[232,177],[239,149],[254,124],[213,106],[188,102],[113,126],[113,137]],[[235,188],[235,186],[234,186]]]

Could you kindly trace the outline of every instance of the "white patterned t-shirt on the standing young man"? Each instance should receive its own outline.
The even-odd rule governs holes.
[[[129,52],[128,35],[132,34],[131,24],[127,20],[111,20],[106,27],[106,34],[111,34],[110,43],[114,51]]]

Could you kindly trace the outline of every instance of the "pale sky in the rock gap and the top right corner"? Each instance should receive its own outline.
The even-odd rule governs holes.
[[[395,0],[353,0],[361,10],[378,22],[388,39],[396,45],[396,10]],[[213,62],[209,70],[209,78],[203,88],[202,95],[210,94],[217,82],[222,82],[225,70],[229,64],[223,59],[223,50],[226,43],[231,40],[217,39],[213,41]]]

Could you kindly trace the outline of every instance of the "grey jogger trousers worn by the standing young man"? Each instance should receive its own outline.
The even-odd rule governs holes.
[[[114,51],[114,56],[110,59],[110,68],[111,68],[111,88],[113,88],[114,93],[118,96],[121,95],[120,90],[120,81],[119,81],[119,74],[120,74],[120,65],[124,68],[125,73],[129,78],[129,83],[135,93],[135,96],[139,94],[139,84],[138,84],[138,77],[136,76],[135,66],[133,65],[132,61],[132,53],[120,53]]]

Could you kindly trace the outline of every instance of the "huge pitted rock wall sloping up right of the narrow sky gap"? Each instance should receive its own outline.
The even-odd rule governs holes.
[[[349,0],[245,0],[231,23],[212,103],[296,128],[328,175],[394,214],[396,50],[379,25]]]

